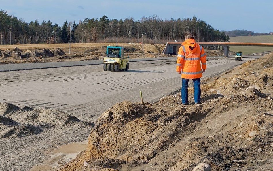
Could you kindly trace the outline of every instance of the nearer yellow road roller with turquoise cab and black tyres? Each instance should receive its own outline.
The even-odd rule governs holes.
[[[103,59],[104,71],[119,71],[129,69],[129,56],[125,58],[123,47],[107,46],[106,57]]]

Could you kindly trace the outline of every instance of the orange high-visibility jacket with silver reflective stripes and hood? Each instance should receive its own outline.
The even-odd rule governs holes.
[[[191,49],[190,46],[193,48]],[[187,79],[201,78],[202,69],[207,69],[206,52],[194,39],[187,39],[179,48],[176,71],[181,71],[181,77]],[[202,68],[201,64],[202,63]]]

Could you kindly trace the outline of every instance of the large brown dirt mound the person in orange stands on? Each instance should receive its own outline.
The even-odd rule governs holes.
[[[270,168],[273,99],[263,91],[272,91],[273,68],[259,69],[257,76],[244,71],[205,84],[200,105],[194,105],[192,88],[188,106],[180,104],[181,95],[116,104],[98,119],[86,151],[62,171],[189,171],[200,162],[215,171]],[[261,89],[248,88],[252,84]]]

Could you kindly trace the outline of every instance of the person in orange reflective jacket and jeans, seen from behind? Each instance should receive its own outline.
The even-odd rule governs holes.
[[[201,64],[200,64],[201,61]],[[179,48],[176,62],[176,71],[181,74],[182,88],[181,99],[183,105],[188,105],[188,83],[192,79],[194,83],[194,101],[200,104],[201,89],[200,78],[207,69],[206,52],[204,48],[197,44],[192,33],[185,33],[185,42]]]

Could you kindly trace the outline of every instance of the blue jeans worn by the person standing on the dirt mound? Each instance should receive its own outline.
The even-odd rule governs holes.
[[[201,99],[200,78],[192,79],[194,82],[194,101],[199,103]],[[189,79],[182,78],[181,99],[182,103],[188,103],[188,83]]]

